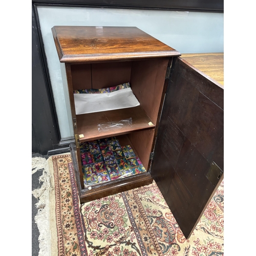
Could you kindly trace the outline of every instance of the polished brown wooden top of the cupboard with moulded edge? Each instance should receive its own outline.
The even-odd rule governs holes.
[[[136,27],[54,26],[60,62],[92,62],[179,56],[175,49]]]

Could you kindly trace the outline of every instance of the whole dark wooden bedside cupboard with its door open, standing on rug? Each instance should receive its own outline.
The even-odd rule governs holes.
[[[136,27],[54,26],[52,33],[66,66],[75,135],[70,149],[80,202],[154,179],[189,238],[223,179],[223,88]],[[139,106],[76,115],[74,90],[127,82]],[[129,128],[97,129],[99,123],[130,117]],[[146,172],[84,186],[79,143],[113,136],[132,146]]]

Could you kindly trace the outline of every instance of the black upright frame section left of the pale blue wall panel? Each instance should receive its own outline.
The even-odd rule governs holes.
[[[32,153],[68,147],[61,143],[46,55],[42,44],[37,13],[32,5]]]

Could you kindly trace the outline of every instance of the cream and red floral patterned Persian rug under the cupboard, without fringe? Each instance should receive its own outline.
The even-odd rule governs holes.
[[[224,181],[185,239],[155,182],[80,205],[70,154],[48,164],[49,255],[224,255]]]

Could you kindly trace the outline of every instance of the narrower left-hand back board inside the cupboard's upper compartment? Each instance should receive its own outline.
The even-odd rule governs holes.
[[[91,64],[71,65],[73,90],[91,89]]]

